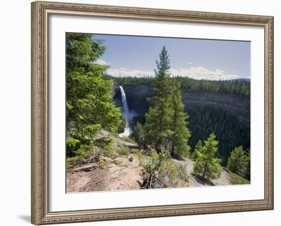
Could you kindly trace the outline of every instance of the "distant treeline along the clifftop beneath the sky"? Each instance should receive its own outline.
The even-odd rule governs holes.
[[[249,80],[196,80],[189,77],[172,77],[180,83],[181,88],[193,90],[207,90],[210,92],[238,94],[243,97],[250,97]],[[153,85],[154,77],[112,77],[104,75],[105,80],[113,80],[119,85]]]

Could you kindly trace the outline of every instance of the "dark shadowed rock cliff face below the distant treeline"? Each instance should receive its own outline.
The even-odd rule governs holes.
[[[113,101],[116,107],[122,107],[120,87],[114,85],[112,89]],[[147,98],[151,96],[151,86],[124,85],[123,89],[126,93],[130,110],[134,110],[138,114],[144,114],[148,111],[149,103]],[[220,108],[238,118],[245,127],[250,128],[250,98],[191,89],[182,89],[181,94],[182,102],[187,112],[202,107]]]

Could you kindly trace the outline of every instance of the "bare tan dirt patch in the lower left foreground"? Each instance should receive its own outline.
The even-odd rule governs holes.
[[[130,162],[130,157],[114,160],[102,157],[106,166],[88,172],[68,170],[67,192],[139,189],[138,181],[142,183],[140,174],[143,168],[139,166],[137,158]]]

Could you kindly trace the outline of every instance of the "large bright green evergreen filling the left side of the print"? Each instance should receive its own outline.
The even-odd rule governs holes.
[[[116,132],[119,108],[110,102],[111,80],[104,80],[108,66],[95,62],[105,53],[102,40],[88,34],[66,34],[66,143],[72,157],[103,127]]]

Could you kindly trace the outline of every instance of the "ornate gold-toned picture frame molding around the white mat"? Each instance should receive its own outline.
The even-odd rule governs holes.
[[[265,196],[261,200],[132,208],[49,211],[48,18],[51,14],[236,24],[265,31]],[[273,210],[273,17],[104,5],[31,4],[31,222],[50,224],[255,210]]]

